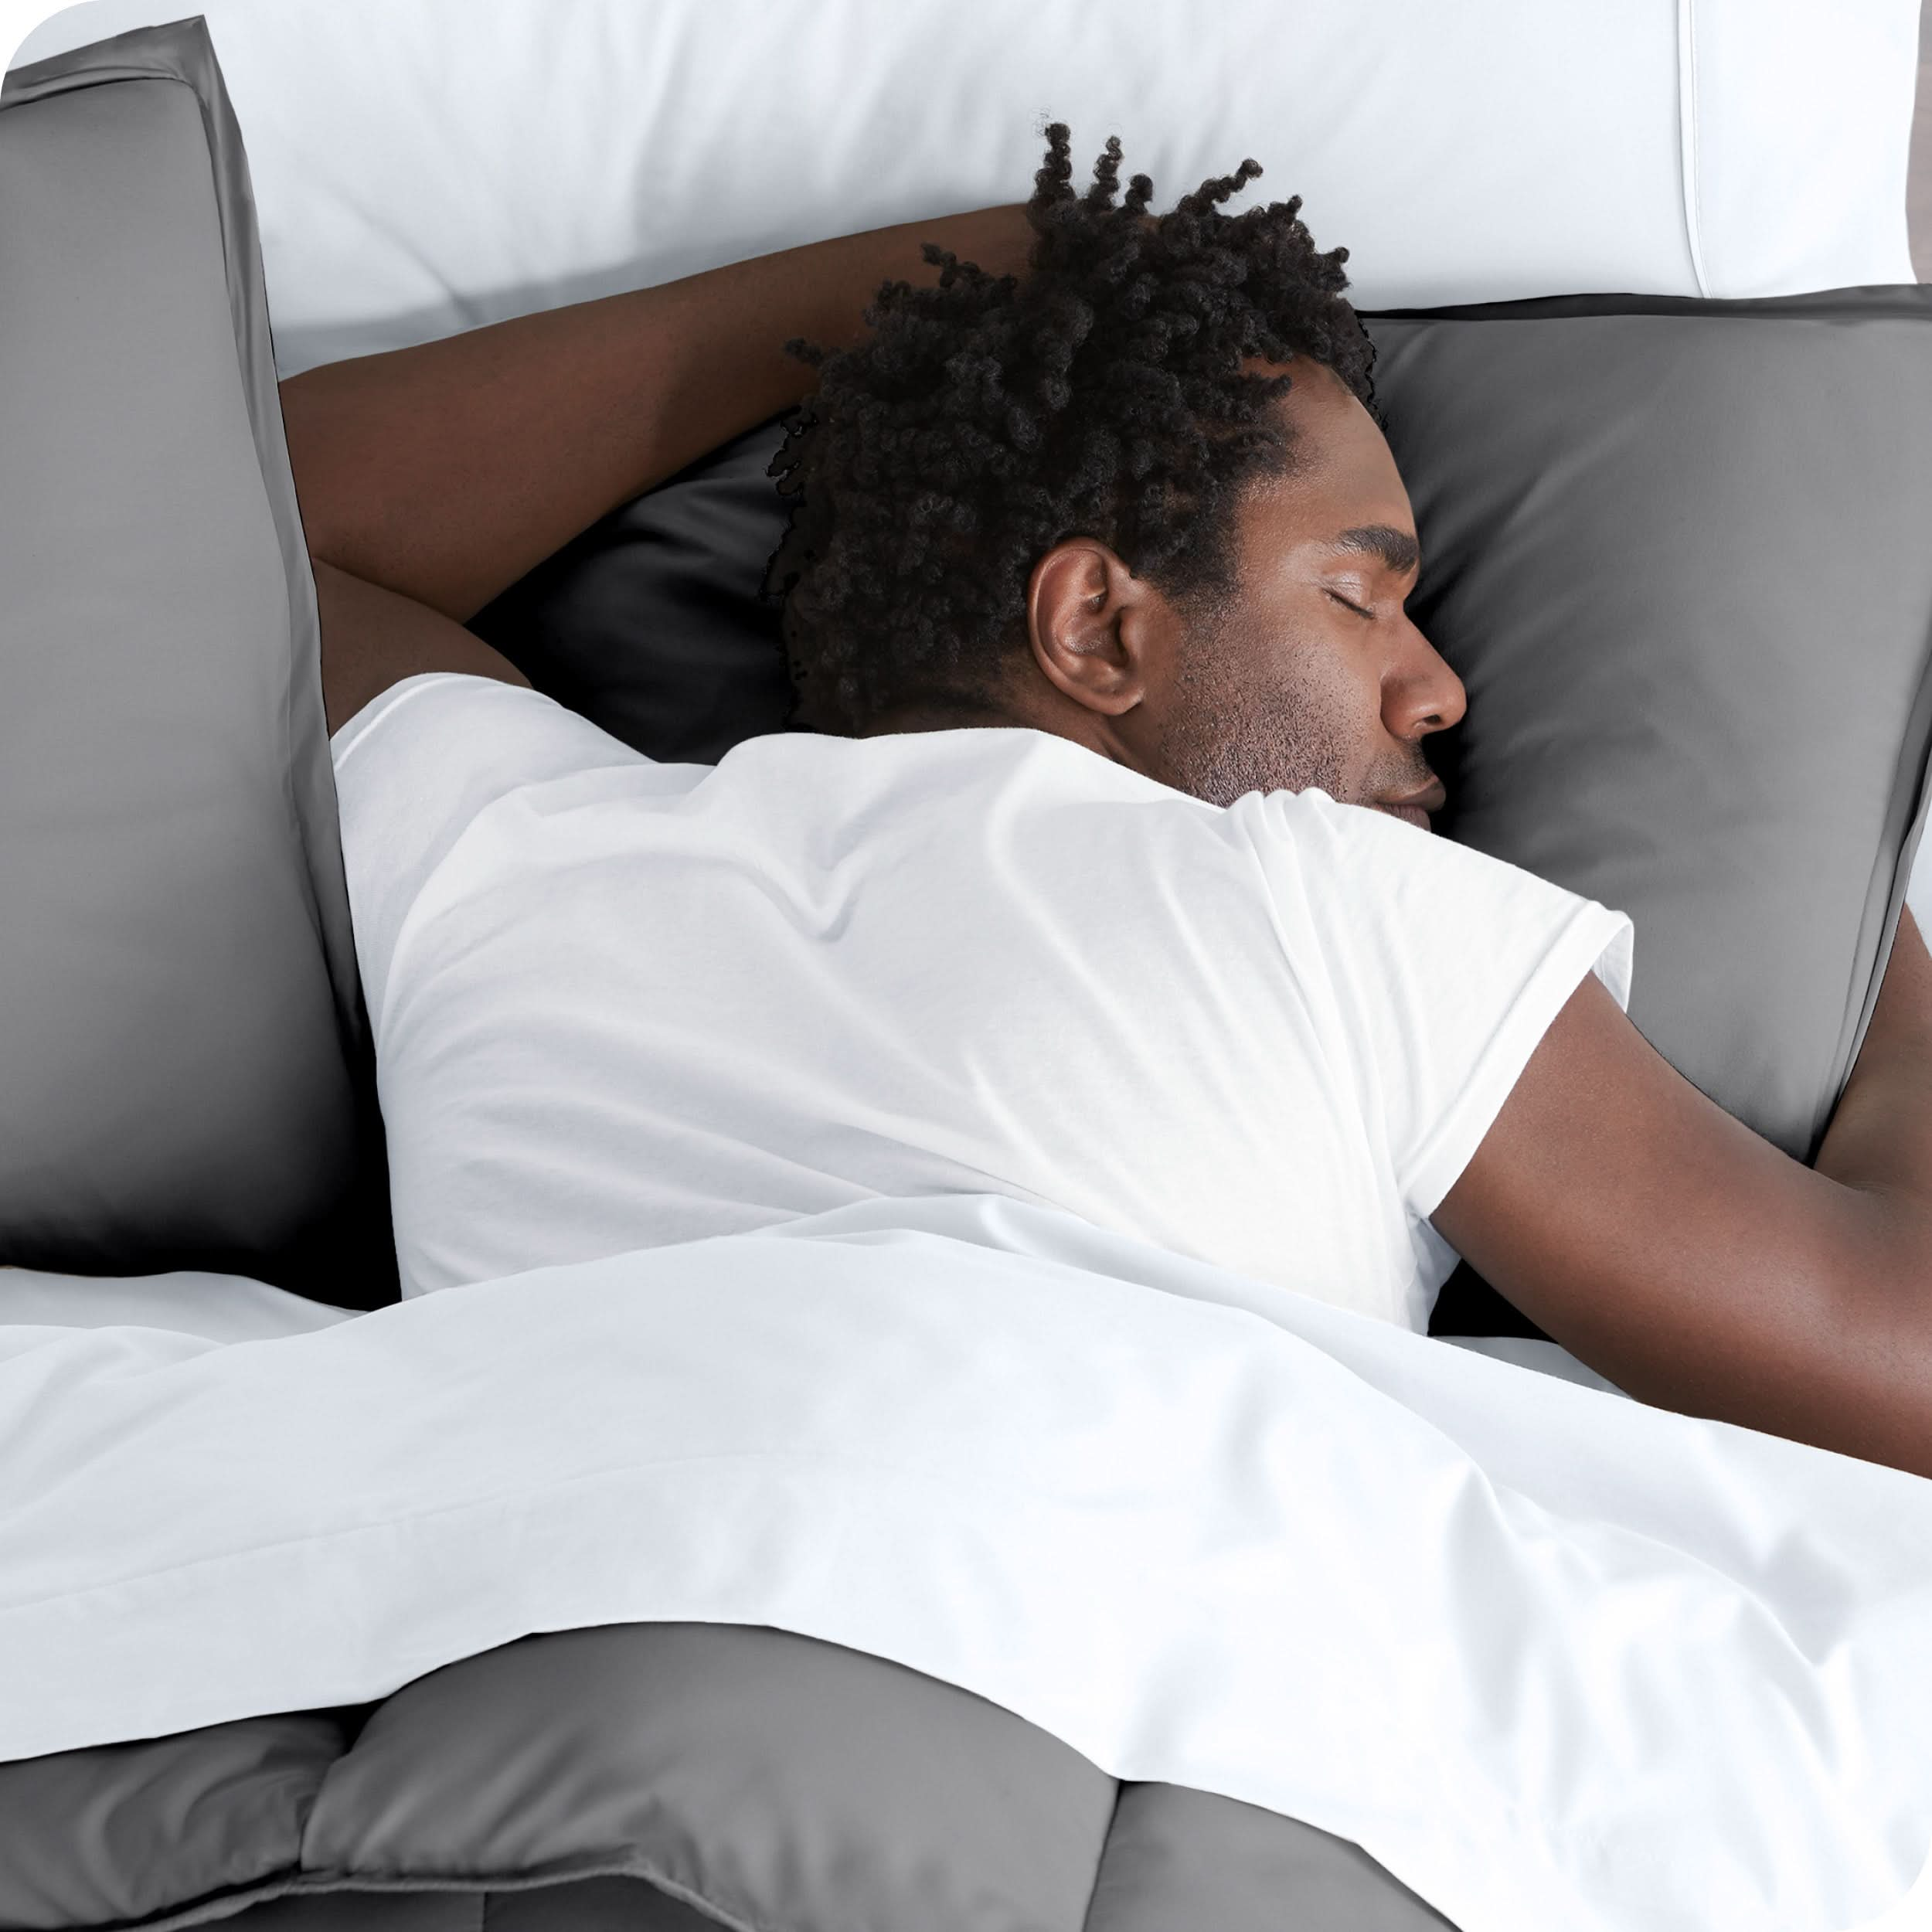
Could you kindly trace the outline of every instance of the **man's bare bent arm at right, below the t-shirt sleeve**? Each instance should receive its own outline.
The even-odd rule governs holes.
[[[1646,1403],[1932,1476],[1932,960],[1907,912],[1816,1167],[1592,976],[1430,1217]]]

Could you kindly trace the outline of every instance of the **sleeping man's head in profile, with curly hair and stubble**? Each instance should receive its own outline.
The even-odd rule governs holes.
[[[1366,404],[1374,346],[1300,199],[1159,218],[1121,143],[1074,197],[1047,129],[1030,272],[937,249],[887,284],[773,462],[798,497],[794,719],[867,736],[1034,724],[1231,804],[1320,784],[1441,800],[1422,740],[1463,686],[1403,614],[1414,518]],[[1412,813],[1410,813],[1412,815]]]

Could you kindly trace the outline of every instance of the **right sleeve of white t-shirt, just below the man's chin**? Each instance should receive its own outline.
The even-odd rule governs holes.
[[[1320,788],[1256,800],[1285,937],[1323,968],[1335,1051],[1424,1219],[1584,976],[1629,1010],[1631,918]]]

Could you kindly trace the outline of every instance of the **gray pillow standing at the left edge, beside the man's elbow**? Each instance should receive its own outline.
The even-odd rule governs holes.
[[[392,1298],[315,585],[199,19],[0,93],[0,1262]]]

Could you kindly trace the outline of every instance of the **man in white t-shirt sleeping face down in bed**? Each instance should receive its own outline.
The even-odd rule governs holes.
[[[1430,835],[1347,251],[1119,160],[284,384],[404,1291],[997,1192],[1932,1474],[1911,914],[1816,1167],[1677,1074],[1623,914]],[[800,402],[794,728],[653,763],[462,628]]]

